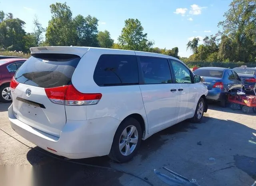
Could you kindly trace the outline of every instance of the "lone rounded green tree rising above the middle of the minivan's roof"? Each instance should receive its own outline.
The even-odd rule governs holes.
[[[124,28],[118,37],[118,44],[123,49],[148,51],[154,42],[148,41],[148,34],[144,34],[143,30],[144,28],[138,19],[125,20]]]

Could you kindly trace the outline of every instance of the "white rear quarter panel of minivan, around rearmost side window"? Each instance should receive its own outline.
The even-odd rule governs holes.
[[[137,113],[143,117],[147,126],[139,85],[100,87],[95,83],[94,69],[102,54],[135,55],[135,52],[90,48],[81,58],[72,76],[72,84],[82,93],[102,93],[102,98],[97,105],[86,106],[86,119],[112,117],[121,122],[128,115]]]

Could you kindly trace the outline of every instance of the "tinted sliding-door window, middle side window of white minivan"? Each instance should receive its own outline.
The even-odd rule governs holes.
[[[145,84],[172,83],[168,59],[140,57]]]

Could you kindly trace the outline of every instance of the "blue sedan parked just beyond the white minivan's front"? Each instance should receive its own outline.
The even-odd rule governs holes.
[[[220,101],[222,107],[225,107],[227,92],[236,92],[239,89],[244,89],[238,74],[228,68],[221,67],[202,67],[194,71],[195,75],[204,78],[204,85],[208,88],[209,100]]]

